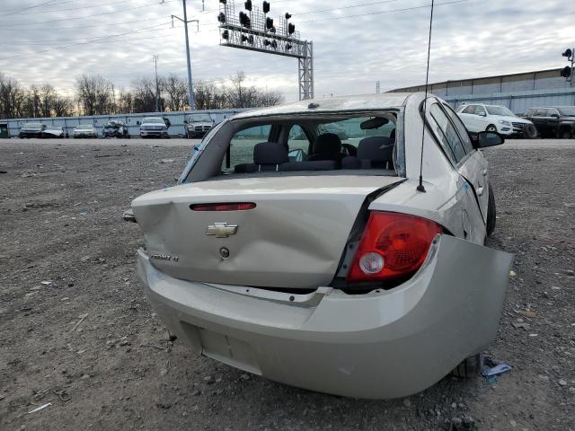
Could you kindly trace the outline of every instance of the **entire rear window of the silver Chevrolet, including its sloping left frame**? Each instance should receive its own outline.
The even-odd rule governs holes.
[[[397,123],[397,110],[232,120],[210,136],[185,181],[396,176]]]

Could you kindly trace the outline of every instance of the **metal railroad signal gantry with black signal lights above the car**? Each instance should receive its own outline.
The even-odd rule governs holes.
[[[314,43],[301,40],[296,25],[289,22],[286,13],[278,22],[268,16],[270,3],[263,2],[262,11],[244,3],[247,12],[235,14],[233,0],[219,0],[220,45],[248,49],[284,57],[296,57],[298,61],[299,100],[314,98]]]

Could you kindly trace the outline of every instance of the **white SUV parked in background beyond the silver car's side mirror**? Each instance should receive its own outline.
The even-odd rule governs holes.
[[[537,129],[528,119],[521,119],[504,106],[473,103],[457,110],[465,128],[472,133],[488,131],[503,136],[537,136]]]

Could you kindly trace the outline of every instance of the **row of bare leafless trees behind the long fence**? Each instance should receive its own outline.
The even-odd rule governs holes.
[[[190,110],[188,84],[181,77],[158,76],[157,93],[161,112]],[[194,99],[197,110],[260,108],[283,101],[279,92],[248,85],[243,72],[231,76],[228,84],[195,82]],[[0,73],[0,119],[155,112],[155,106],[155,77],[141,76],[128,88],[118,88],[101,75],[79,75],[74,95],[66,96],[51,84],[25,87]]]

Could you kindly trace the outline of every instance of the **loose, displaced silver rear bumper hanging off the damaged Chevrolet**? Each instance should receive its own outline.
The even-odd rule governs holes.
[[[443,236],[410,281],[367,295],[194,283],[159,272],[144,251],[138,274],[166,326],[197,352],[312,391],[387,399],[428,388],[491,343],[511,260]]]

